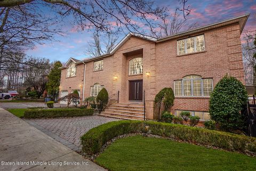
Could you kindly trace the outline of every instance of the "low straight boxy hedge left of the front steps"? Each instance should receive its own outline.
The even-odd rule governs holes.
[[[60,109],[28,109],[24,118],[57,118],[93,115],[93,109],[60,108]]]

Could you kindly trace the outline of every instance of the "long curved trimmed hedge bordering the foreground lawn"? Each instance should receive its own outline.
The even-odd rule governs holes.
[[[149,126],[149,133],[153,135],[211,145],[226,150],[256,152],[256,139],[253,137],[186,125],[131,120],[112,121],[92,128],[81,137],[82,152],[97,153],[107,141],[114,137],[128,133],[145,132],[145,126]]]

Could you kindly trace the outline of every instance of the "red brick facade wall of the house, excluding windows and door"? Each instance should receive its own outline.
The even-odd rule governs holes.
[[[131,37],[112,56],[103,59],[103,70],[93,72],[93,61],[86,63],[84,97],[90,96],[90,86],[95,83],[104,85],[109,95],[120,91],[120,102],[129,99],[129,80],[143,79],[146,91],[146,115],[153,119],[155,95],[164,87],[172,87],[173,81],[187,75],[200,75],[213,78],[213,86],[226,74],[235,76],[244,84],[243,61],[239,25],[234,24],[216,28],[196,35],[204,34],[205,52],[177,55],[177,39],[162,43],[150,42],[138,37]],[[189,35],[189,36],[196,36]],[[187,37],[179,37],[179,39]],[[129,76],[129,60],[138,54],[128,52],[140,50],[143,58],[143,75]],[[77,76],[66,78],[66,69],[62,70],[61,89],[79,88],[83,81],[83,64],[77,66]],[[146,72],[150,76],[146,76]],[[117,76],[113,80],[113,76]],[[74,87],[74,88],[73,88]],[[82,92],[82,88],[81,88]],[[177,97],[172,107],[191,111],[208,111],[209,97]]]

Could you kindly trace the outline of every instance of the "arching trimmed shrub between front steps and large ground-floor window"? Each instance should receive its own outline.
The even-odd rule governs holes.
[[[163,88],[155,97],[154,108],[157,110],[158,120],[160,120],[160,110],[162,103],[164,105],[164,111],[170,111],[174,102],[174,93],[171,87]]]

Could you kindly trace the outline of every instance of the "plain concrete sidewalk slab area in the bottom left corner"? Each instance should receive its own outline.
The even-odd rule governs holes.
[[[105,169],[0,108],[0,170]]]

